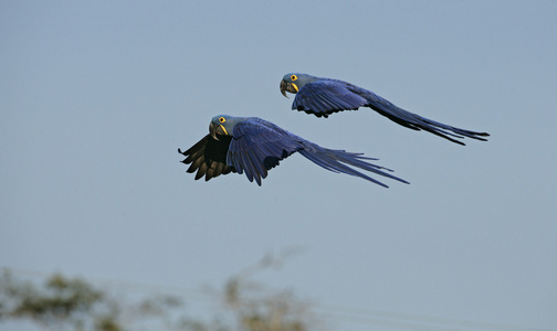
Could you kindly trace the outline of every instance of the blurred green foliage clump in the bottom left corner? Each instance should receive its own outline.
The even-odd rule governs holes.
[[[78,278],[53,275],[42,286],[14,279],[9,273],[0,278],[0,320],[25,319],[48,330],[124,331],[126,316],[138,319],[160,317],[179,306],[177,299],[148,298],[127,305]]]

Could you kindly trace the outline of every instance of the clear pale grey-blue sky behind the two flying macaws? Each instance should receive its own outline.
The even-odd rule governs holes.
[[[556,330],[556,18],[557,1],[2,1],[0,266],[199,288],[302,247],[258,279],[323,306]],[[292,111],[290,72],[492,137]],[[195,181],[177,148],[219,114],[411,184],[299,154],[261,188]]]

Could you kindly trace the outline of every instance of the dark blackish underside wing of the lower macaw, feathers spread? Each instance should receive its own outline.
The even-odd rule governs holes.
[[[227,152],[232,138],[219,136],[219,139],[214,140],[211,135],[207,135],[187,151],[182,152],[178,149],[178,152],[186,157],[181,162],[191,163],[187,172],[197,171],[196,180],[204,175],[208,181],[221,174],[237,172],[234,167],[227,164]]]

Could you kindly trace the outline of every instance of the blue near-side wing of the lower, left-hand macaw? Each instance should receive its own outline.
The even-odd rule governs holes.
[[[269,170],[301,148],[296,136],[259,118],[237,124],[232,136],[228,150],[230,164],[259,185]]]

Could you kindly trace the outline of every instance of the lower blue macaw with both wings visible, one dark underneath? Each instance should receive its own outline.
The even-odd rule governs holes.
[[[216,116],[209,125],[209,135],[187,151],[178,149],[178,152],[186,157],[181,162],[191,163],[187,172],[197,171],[196,180],[204,175],[208,181],[220,174],[238,172],[245,173],[250,182],[255,180],[261,185],[261,180],[278,166],[278,161],[299,152],[327,170],[356,175],[385,188],[388,186],[349,166],[408,184],[380,169],[392,170],[366,161],[377,159],[323,148],[258,117]]]

